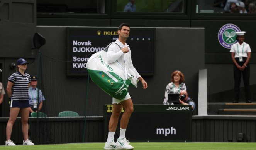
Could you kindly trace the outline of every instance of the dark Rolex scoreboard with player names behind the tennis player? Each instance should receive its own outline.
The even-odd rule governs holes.
[[[117,39],[117,27],[67,28],[67,75],[87,75],[90,56]],[[126,43],[136,70],[141,75],[153,75],[155,28],[130,28]]]

